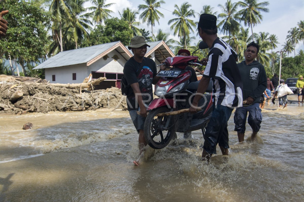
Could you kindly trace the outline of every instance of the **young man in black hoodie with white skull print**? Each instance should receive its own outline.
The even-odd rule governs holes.
[[[261,94],[267,88],[267,77],[264,66],[254,59],[257,58],[259,46],[251,42],[247,45],[245,51],[245,60],[237,64],[243,82],[243,107],[237,108],[234,112],[234,131],[237,131],[239,142],[244,141],[246,130],[247,113],[248,124],[252,128],[251,139],[256,137],[261,128],[262,113],[259,108]]]

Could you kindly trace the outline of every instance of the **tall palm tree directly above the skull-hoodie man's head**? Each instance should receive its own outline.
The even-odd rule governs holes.
[[[238,12],[238,15],[241,21],[244,21],[245,26],[251,26],[251,35],[254,41],[253,27],[261,23],[263,19],[261,12],[269,12],[268,8],[264,8],[264,6],[269,5],[269,2],[257,3],[257,0],[244,0],[244,2],[237,2],[237,5],[244,8]]]

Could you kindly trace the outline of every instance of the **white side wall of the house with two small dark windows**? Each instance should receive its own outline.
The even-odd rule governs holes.
[[[73,73],[76,73],[76,80],[73,80]],[[52,81],[52,75],[55,75],[55,81]],[[87,76],[88,71],[86,63],[55,68],[45,68],[45,79],[50,81],[50,83],[82,83]]]

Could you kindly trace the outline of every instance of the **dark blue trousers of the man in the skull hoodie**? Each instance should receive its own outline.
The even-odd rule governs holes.
[[[246,130],[246,119],[247,113],[248,116],[248,124],[252,128],[254,132],[258,132],[261,128],[262,122],[262,113],[259,107],[259,103],[251,104],[247,107],[237,108],[234,112],[234,131],[238,133],[245,133]]]

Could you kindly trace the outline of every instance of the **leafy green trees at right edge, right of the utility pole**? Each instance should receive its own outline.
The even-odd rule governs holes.
[[[276,64],[279,66],[279,63]],[[278,68],[277,68],[278,69]],[[281,75],[283,79],[297,78],[304,74],[304,54],[295,57],[282,58]]]

